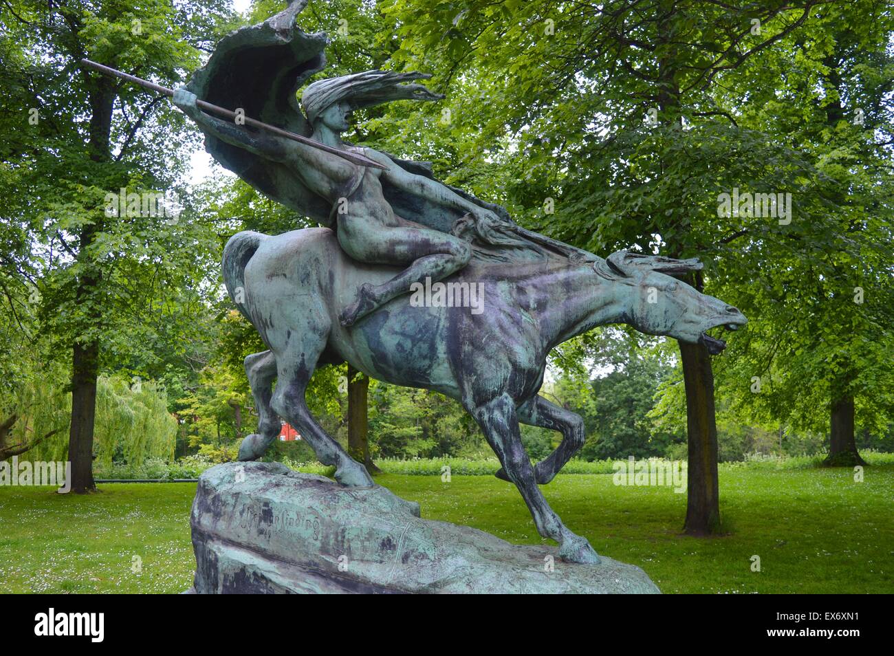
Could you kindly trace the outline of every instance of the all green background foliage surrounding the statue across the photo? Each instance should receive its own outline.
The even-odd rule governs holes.
[[[431,161],[519,223],[601,255],[700,255],[705,290],[751,320],[713,359],[721,459],[742,460],[815,454],[828,425],[817,408],[841,394],[856,397],[860,444],[891,448],[891,15],[808,4],[310,0],[299,24],[332,38],[317,79],[417,69],[447,94],[358,112],[352,142]],[[258,0],[250,21],[284,6]],[[178,86],[247,19],[223,0],[10,0],[0,22],[0,406],[40,408],[17,428],[32,438],[67,425],[72,343],[97,339],[109,422],[97,417],[97,466],[172,457],[159,399],[177,417],[177,456],[232,458],[257,421],[242,360],[266,347],[223,293],[223,243],[310,223],[232,177],[188,189],[185,154],[200,133],[131,85],[106,88],[114,112],[99,139],[90,118],[110,98],[76,60]],[[183,213],[106,215],[105,194],[122,187],[174,189]],[[791,192],[793,220],[719,216],[732,187]],[[586,458],[685,455],[674,351],[608,331],[554,350],[561,374],[543,393],[584,416]],[[308,390],[342,442],[344,375],[325,367]],[[129,396],[138,379],[155,396]],[[132,436],[112,436],[128,426]],[[560,439],[521,432],[535,459]],[[61,454],[65,442],[63,431],[36,452]],[[450,399],[376,382],[370,444],[377,460],[489,453]],[[271,457],[306,462],[306,450],[277,444]]]

